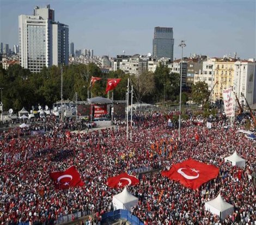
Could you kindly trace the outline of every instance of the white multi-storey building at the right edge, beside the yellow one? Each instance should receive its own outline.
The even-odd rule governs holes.
[[[255,67],[255,59],[238,60],[234,64],[233,90],[241,105],[246,105],[245,98],[250,106],[253,104],[253,91],[256,88],[254,87]]]

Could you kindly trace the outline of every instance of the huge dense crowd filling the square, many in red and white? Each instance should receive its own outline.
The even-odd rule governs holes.
[[[135,114],[132,140],[126,140],[121,118],[114,120],[116,127],[69,135],[67,130],[84,126],[49,118],[42,125],[47,130],[43,135],[21,138],[16,134],[24,132],[21,128],[0,132],[1,223],[53,224],[58,217],[77,211],[100,221],[102,214],[113,210],[112,196],[121,192],[109,188],[107,178],[127,171],[138,176],[135,169],[145,166],[169,170],[192,158],[217,166],[220,174],[196,191],[160,172],[144,174],[138,185],[127,187],[139,198],[132,214],[144,224],[255,224],[256,189],[248,175],[255,169],[256,142],[236,132],[242,123],[224,129],[226,121],[220,119],[208,129],[205,124],[194,125],[193,120],[182,121],[180,141],[178,130],[168,127],[167,117],[156,112]],[[224,162],[234,151],[246,160],[245,168]],[[55,189],[49,173],[72,165],[84,186]],[[218,193],[234,205],[234,214],[223,221],[204,209],[205,202]]]

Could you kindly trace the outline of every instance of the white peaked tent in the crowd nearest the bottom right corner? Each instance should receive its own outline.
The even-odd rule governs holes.
[[[233,205],[225,202],[221,197],[221,194],[217,198],[212,199],[209,202],[205,202],[205,210],[210,211],[212,214],[217,214],[222,220],[230,214],[233,214]]]

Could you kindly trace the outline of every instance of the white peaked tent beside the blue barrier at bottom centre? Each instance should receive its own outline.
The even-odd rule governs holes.
[[[127,191],[125,187],[121,193],[113,196],[112,203],[114,210],[126,209],[128,211],[131,211],[132,207],[138,205],[138,201],[138,198],[136,198],[129,191]]]

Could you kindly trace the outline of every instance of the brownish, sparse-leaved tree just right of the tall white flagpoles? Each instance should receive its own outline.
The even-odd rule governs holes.
[[[137,102],[141,102],[143,97],[153,93],[154,91],[154,73],[144,71],[137,76],[133,75],[131,77],[131,83],[133,85],[133,91]]]

